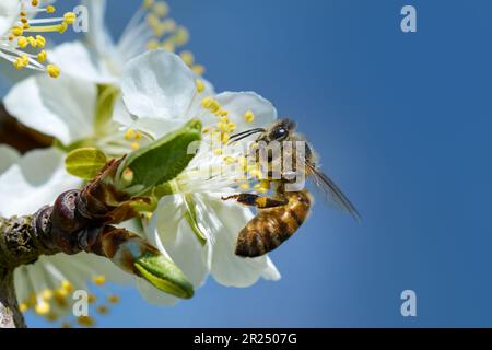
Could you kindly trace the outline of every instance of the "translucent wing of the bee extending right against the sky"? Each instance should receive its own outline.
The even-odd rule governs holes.
[[[337,208],[348,211],[358,222],[361,221],[361,215],[355,207],[350,202],[349,198],[338,188],[338,186],[324,173],[316,168],[316,166],[306,161],[307,174],[311,176],[316,187],[321,189],[328,202],[333,203]]]

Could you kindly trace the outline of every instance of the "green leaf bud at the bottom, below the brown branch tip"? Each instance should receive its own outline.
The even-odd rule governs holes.
[[[194,296],[194,287],[183,271],[163,255],[151,253],[139,257],[134,267],[156,289],[178,298]]]

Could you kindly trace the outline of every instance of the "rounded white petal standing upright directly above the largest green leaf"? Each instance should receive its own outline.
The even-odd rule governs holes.
[[[197,92],[195,74],[183,60],[163,49],[131,59],[121,81],[126,107],[138,117],[187,120]]]

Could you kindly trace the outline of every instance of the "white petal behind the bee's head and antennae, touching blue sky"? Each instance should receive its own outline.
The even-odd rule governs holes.
[[[229,119],[236,124],[237,131],[265,128],[277,119],[276,107],[254,92],[223,92],[216,95],[216,100],[222,108],[227,110]],[[245,120],[245,114],[248,110],[255,115],[253,122]]]

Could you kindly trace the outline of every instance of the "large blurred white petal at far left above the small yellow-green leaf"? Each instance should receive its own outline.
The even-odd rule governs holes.
[[[24,125],[69,144],[92,136],[96,96],[87,81],[36,75],[15,84],[3,102]]]

